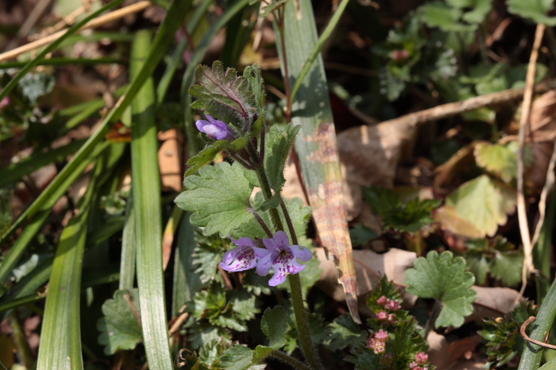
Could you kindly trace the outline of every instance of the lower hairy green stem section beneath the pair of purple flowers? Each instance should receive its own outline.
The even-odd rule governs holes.
[[[313,346],[311,332],[309,330],[309,321],[303,305],[303,294],[301,291],[301,279],[299,274],[288,275],[288,281],[291,287],[291,301],[293,303],[293,312],[295,312],[295,322],[297,323],[297,332],[300,334],[301,348],[305,355],[305,359],[309,363],[309,367],[313,370],[322,369],[320,360]]]

